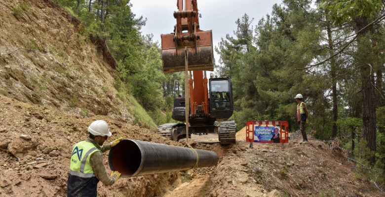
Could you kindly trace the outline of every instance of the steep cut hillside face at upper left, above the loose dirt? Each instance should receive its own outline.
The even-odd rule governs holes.
[[[130,122],[132,115],[116,98],[116,63],[88,37],[75,17],[50,0],[1,0],[0,94],[68,114]]]

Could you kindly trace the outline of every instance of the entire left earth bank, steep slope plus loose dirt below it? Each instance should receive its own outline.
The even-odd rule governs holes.
[[[178,145],[130,124],[132,115],[116,98],[113,60],[96,45],[50,0],[0,1],[0,196],[66,196],[72,146],[97,119],[114,133],[106,143],[121,136]],[[98,193],[153,197],[177,177],[122,178],[99,183]]]

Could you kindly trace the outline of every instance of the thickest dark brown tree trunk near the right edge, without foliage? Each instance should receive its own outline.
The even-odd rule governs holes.
[[[354,18],[356,31],[368,25],[368,20],[365,16]],[[367,33],[363,31],[358,34],[358,43],[362,36]],[[360,44],[358,44],[358,54],[360,54]],[[376,92],[373,85],[372,68],[367,63],[361,63],[361,80],[362,80],[362,138],[366,140],[367,146],[373,151],[370,159],[371,164],[375,162],[376,152]]]

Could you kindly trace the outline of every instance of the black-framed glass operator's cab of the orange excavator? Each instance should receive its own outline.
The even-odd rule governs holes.
[[[209,79],[210,118],[227,120],[233,111],[232,84],[229,77]]]

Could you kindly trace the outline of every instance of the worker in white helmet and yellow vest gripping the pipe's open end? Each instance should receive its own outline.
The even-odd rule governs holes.
[[[107,174],[102,152],[110,150],[123,138],[103,145],[112,134],[103,120],[92,122],[88,134],[87,140],[76,143],[72,148],[67,197],[97,197],[99,180],[105,185],[112,185],[120,177],[118,171],[112,171],[111,176]]]

